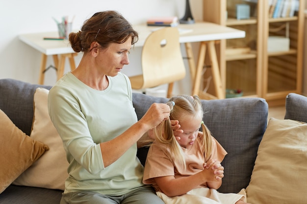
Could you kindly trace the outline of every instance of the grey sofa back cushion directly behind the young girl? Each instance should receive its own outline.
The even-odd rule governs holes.
[[[138,119],[154,102],[168,99],[133,93],[133,106]],[[238,193],[249,184],[256,160],[258,145],[267,124],[268,105],[261,98],[230,98],[202,100],[204,122],[228,152],[222,165],[225,167],[222,193]],[[144,164],[148,148],[141,148],[138,157]],[[145,153],[144,153],[145,152]]]

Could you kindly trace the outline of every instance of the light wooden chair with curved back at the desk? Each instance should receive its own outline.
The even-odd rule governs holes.
[[[142,75],[129,77],[132,89],[145,90],[168,84],[167,97],[170,98],[174,82],[185,76],[178,28],[153,31],[143,45],[141,64]]]

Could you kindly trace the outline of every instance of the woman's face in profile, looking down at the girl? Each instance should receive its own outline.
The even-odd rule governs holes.
[[[107,48],[99,49],[99,55],[96,59],[99,71],[107,76],[116,76],[124,65],[129,64],[130,49],[131,37],[125,43],[111,43]]]

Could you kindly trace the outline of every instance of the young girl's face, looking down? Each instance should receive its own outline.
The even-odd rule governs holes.
[[[180,129],[183,133],[176,136],[180,136],[179,145],[184,148],[189,148],[194,144],[198,131],[201,127],[202,118],[198,116],[184,117],[179,119]]]

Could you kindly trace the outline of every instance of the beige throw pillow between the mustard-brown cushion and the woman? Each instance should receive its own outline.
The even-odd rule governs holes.
[[[30,137],[44,142],[50,150],[16,179],[14,184],[64,190],[68,161],[62,139],[48,113],[48,93],[49,90],[43,88],[38,88],[34,93],[34,120]]]

